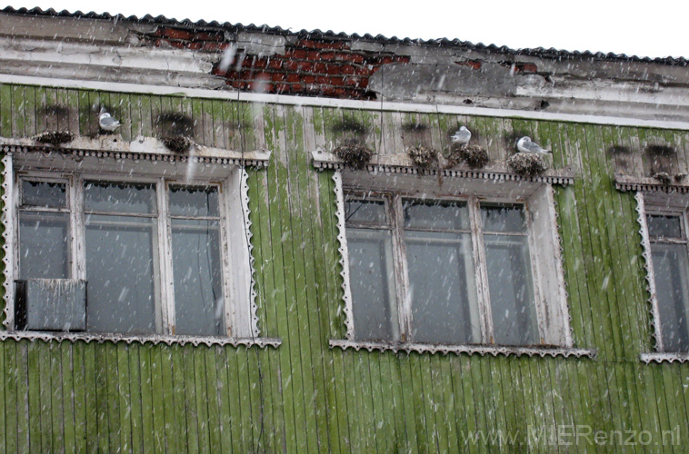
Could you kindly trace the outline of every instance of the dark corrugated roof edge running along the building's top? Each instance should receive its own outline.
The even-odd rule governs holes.
[[[603,53],[603,52],[590,52],[590,51],[585,51],[585,52],[570,52],[570,51],[564,51],[564,50],[558,50],[555,49],[554,47],[551,47],[549,49],[546,49],[544,47],[536,47],[533,49],[511,49],[507,46],[498,46],[495,44],[474,44],[468,41],[461,41],[459,39],[447,39],[447,38],[438,38],[438,39],[431,39],[431,40],[423,40],[423,39],[411,39],[411,38],[398,38],[396,36],[393,36],[392,38],[388,38],[383,35],[370,35],[370,34],[365,34],[365,35],[358,35],[358,34],[353,34],[353,35],[347,35],[344,32],[343,33],[335,33],[332,30],[328,30],[326,32],[323,32],[319,29],[308,31],[308,30],[301,30],[299,32],[293,32],[290,30],[285,30],[282,27],[275,26],[271,27],[268,25],[242,25],[242,24],[230,24],[229,22],[225,23],[219,23],[217,21],[212,21],[212,22],[206,22],[205,20],[200,20],[200,21],[191,21],[190,19],[184,19],[184,20],[177,20],[174,18],[167,18],[165,15],[145,15],[143,17],[137,17],[135,15],[130,15],[130,16],[125,16],[125,15],[110,15],[108,13],[95,13],[95,12],[90,12],[90,13],[83,13],[81,11],[76,11],[74,13],[70,13],[67,10],[63,11],[55,11],[53,8],[49,9],[41,9],[38,7],[35,8],[13,8],[12,6],[6,6],[0,12],[7,13],[7,14],[17,14],[17,15],[48,15],[48,16],[55,16],[55,17],[79,17],[79,18],[87,18],[87,19],[105,19],[105,20],[117,20],[117,21],[131,21],[131,22],[138,22],[142,24],[158,24],[158,25],[170,25],[170,26],[185,26],[185,27],[216,27],[216,28],[221,28],[226,31],[255,31],[255,32],[263,32],[263,33],[268,33],[268,34],[275,34],[275,35],[295,35],[295,36],[308,36],[312,38],[322,38],[322,39],[364,39],[366,41],[375,41],[383,44],[416,44],[416,45],[429,45],[429,46],[454,46],[454,47],[464,47],[466,49],[471,49],[471,50],[476,50],[476,51],[484,51],[484,52],[489,52],[493,54],[514,54],[514,55],[529,55],[529,56],[535,56],[535,57],[541,57],[541,58],[551,58],[551,59],[559,59],[559,60],[586,60],[586,59],[594,59],[594,60],[605,60],[605,61],[616,61],[616,62],[643,62],[643,63],[653,63],[653,64],[669,64],[669,65],[674,65],[674,66],[687,66],[689,65],[689,60],[685,59],[684,57],[679,57],[679,58],[673,58],[673,57],[664,57],[664,58],[651,58],[651,57],[639,57],[636,55],[626,55],[626,54],[614,54],[612,52],[610,53]]]

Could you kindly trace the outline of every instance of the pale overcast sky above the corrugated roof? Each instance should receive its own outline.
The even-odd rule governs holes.
[[[94,2],[86,0],[12,2],[14,7],[53,7],[124,15],[165,15],[194,21],[316,28],[363,35],[459,38],[474,44],[512,48],[554,47],[568,51],[614,52],[639,56],[689,57],[683,24],[689,2],[578,0],[285,2]]]

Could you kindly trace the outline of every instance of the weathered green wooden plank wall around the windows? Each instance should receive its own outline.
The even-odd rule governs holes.
[[[639,360],[653,350],[641,238],[634,196],[614,189],[606,150],[671,143],[686,171],[687,133],[3,84],[0,135],[93,135],[100,103],[123,121],[125,140],[169,134],[161,115],[173,113],[193,120],[197,143],[274,152],[267,170],[250,171],[250,206],[260,328],[283,344],[0,342],[0,453],[686,452],[669,438],[655,444],[666,430],[689,443],[689,364]],[[362,134],[352,123],[379,153],[440,148],[467,124],[494,159],[528,133],[553,148],[555,167],[574,165],[574,186],[556,189],[565,280],[575,345],[597,357],[330,350],[345,335],[334,183],[309,153]],[[629,446],[528,436],[573,425],[648,434]],[[485,439],[467,442],[476,430]],[[500,430],[515,439],[501,442]]]

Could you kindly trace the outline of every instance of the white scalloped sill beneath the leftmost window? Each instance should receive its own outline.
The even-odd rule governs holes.
[[[207,345],[208,347],[212,345],[232,345],[233,347],[239,347],[244,345],[245,347],[251,347],[253,345],[260,348],[273,347],[277,348],[282,344],[280,339],[272,338],[228,338],[228,337],[214,337],[214,336],[165,336],[165,335],[142,335],[142,336],[125,336],[122,334],[89,334],[85,332],[52,332],[52,331],[0,331],[0,341],[6,341],[8,339],[13,339],[15,341],[21,341],[23,339],[29,341],[84,341],[89,342],[125,342],[127,344],[131,343],[151,343],[159,344],[165,343],[167,345]]]

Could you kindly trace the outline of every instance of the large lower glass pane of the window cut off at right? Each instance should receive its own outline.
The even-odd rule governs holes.
[[[665,351],[689,351],[689,261],[684,244],[651,245]]]

